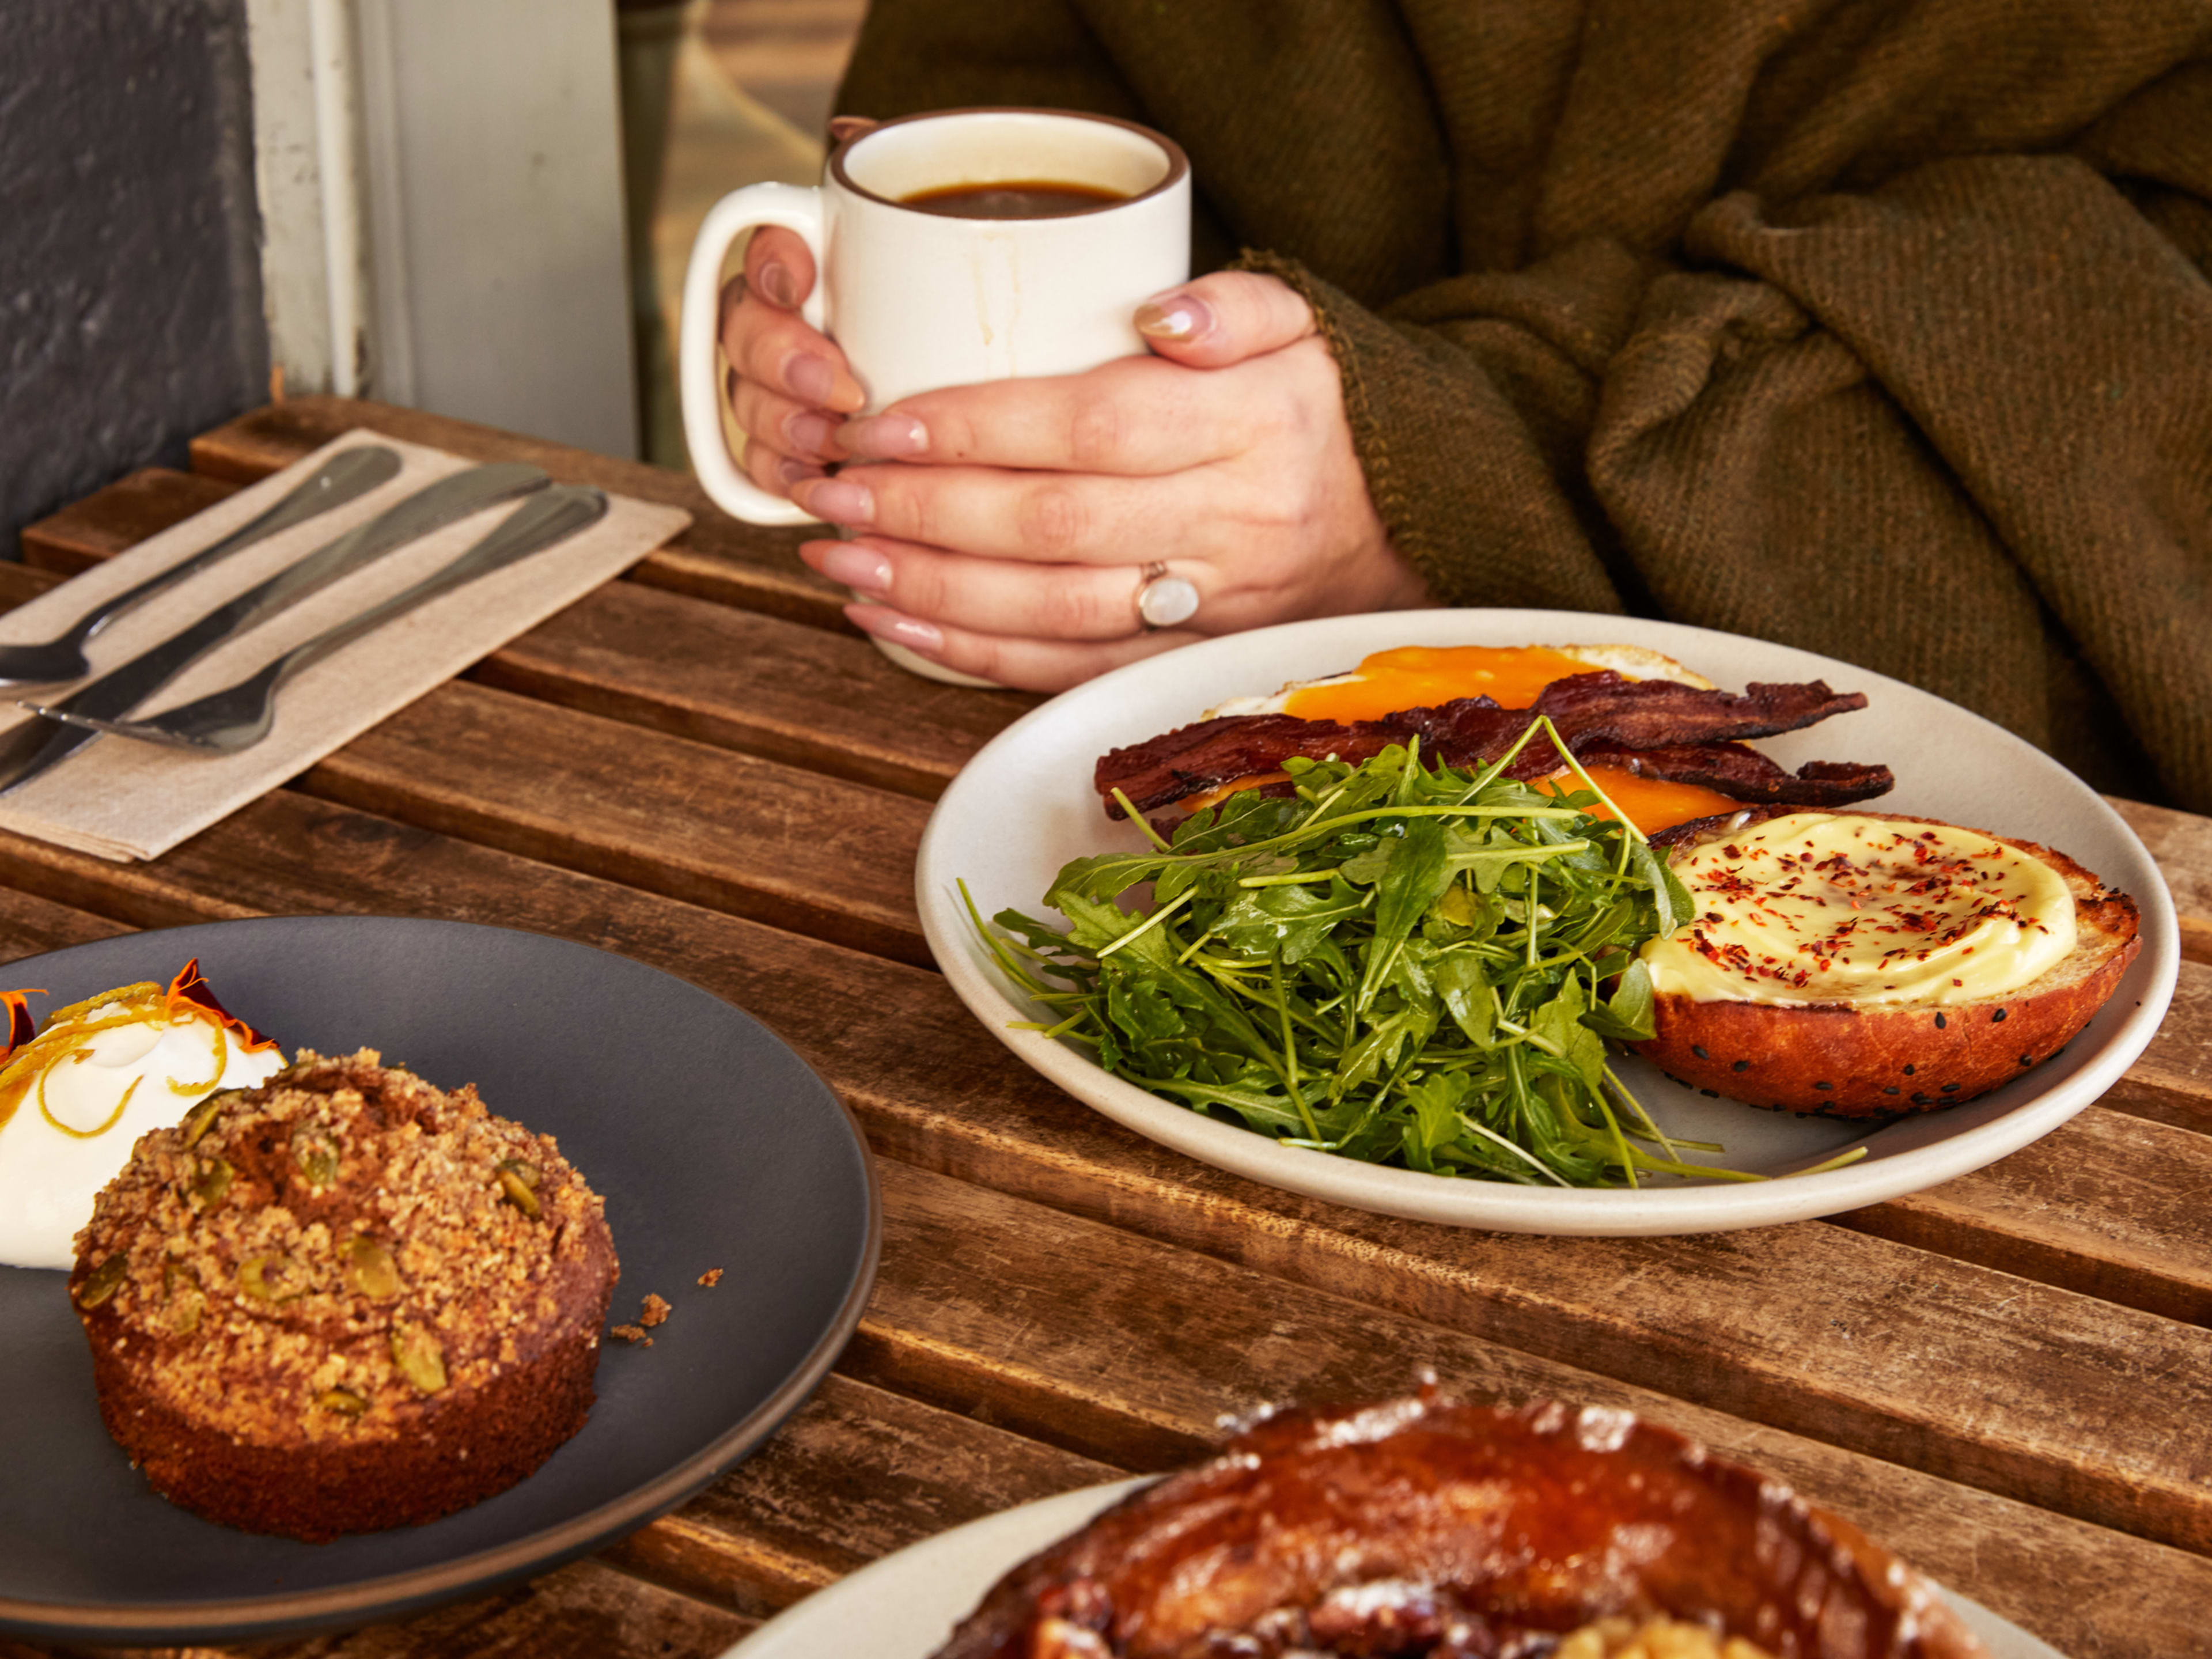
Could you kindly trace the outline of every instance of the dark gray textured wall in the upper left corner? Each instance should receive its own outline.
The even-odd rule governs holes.
[[[243,0],[0,4],[0,555],[261,403]]]

